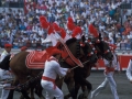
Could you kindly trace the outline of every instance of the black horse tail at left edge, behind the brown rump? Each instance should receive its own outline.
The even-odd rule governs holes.
[[[7,56],[3,58],[3,61],[0,63],[0,68],[1,68],[1,69],[9,70],[10,56],[11,56],[11,55],[7,55]]]

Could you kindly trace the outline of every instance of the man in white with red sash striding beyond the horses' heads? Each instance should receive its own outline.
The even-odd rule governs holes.
[[[101,90],[103,90],[107,87],[108,84],[111,88],[113,99],[119,99],[119,96],[117,92],[117,84],[113,79],[114,69],[120,72],[120,65],[119,65],[116,53],[113,53],[113,61],[112,62],[109,62],[107,59],[103,59],[103,62],[106,65],[106,70],[105,70],[106,78],[105,78],[103,82],[98,86],[98,88],[96,88],[94,91],[91,91],[90,99],[94,99]]]

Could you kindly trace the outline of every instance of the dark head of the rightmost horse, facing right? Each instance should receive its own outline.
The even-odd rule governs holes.
[[[112,52],[111,52],[109,44],[107,42],[101,41],[99,38],[92,38],[91,42],[95,45],[95,48],[97,50],[98,56],[102,56],[107,61],[113,59]]]

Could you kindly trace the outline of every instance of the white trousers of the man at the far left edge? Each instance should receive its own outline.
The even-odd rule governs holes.
[[[9,79],[12,78],[12,75],[8,70],[0,69],[0,78]],[[3,86],[11,86],[11,84],[4,84]],[[10,90],[2,88],[1,99],[7,99]]]

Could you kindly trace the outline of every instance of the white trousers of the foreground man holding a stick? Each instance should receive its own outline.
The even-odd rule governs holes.
[[[41,80],[41,85],[46,91],[46,99],[53,99],[54,97],[56,99],[64,99],[63,91],[57,86],[54,89],[54,84],[52,81]]]

